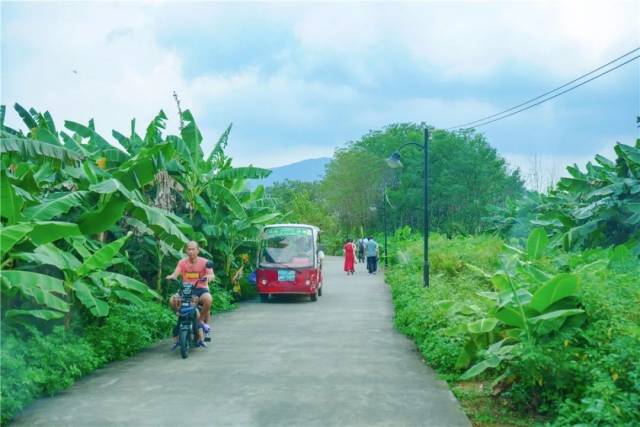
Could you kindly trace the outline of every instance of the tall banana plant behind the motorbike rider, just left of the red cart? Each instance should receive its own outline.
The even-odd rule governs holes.
[[[259,226],[279,216],[274,206],[265,202],[264,187],[249,190],[246,185],[246,180],[267,177],[271,171],[232,166],[224,152],[231,126],[205,158],[193,115],[186,110],[181,117],[185,123],[181,137],[171,140],[176,143],[184,172],[173,176],[183,188],[189,221],[206,238],[208,251],[220,258],[218,272],[230,283],[243,265],[240,253],[255,242]]]

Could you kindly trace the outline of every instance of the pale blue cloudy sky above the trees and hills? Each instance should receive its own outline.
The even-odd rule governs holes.
[[[502,111],[640,47],[640,0],[6,2],[0,100],[142,133],[173,92],[234,164],[331,157],[398,122],[448,128]],[[640,60],[479,128],[531,186],[633,144]]]

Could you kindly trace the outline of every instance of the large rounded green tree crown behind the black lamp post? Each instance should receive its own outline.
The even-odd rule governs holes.
[[[322,192],[341,228],[383,228],[382,204],[388,204],[391,229],[423,227],[424,152],[408,145],[404,168],[394,173],[384,162],[403,143],[424,144],[423,125],[394,124],[371,131],[336,150],[327,166]],[[429,141],[429,216],[434,231],[447,235],[481,230],[493,205],[523,193],[518,171],[510,172],[481,134],[471,131],[432,132]],[[383,194],[387,197],[383,197]],[[377,209],[375,213],[371,206]]]

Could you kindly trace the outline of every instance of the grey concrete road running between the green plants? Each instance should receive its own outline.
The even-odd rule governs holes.
[[[393,328],[381,273],[325,260],[317,302],[278,298],[216,316],[212,346],[170,342],[112,363],[15,426],[469,426],[445,383]]]

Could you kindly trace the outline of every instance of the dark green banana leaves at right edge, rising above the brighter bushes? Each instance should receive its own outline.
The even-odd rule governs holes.
[[[566,250],[625,243],[640,254],[640,140],[617,143],[616,159],[597,155],[586,171],[570,166],[546,195],[529,195],[493,208],[488,228],[523,237],[529,226],[544,227],[554,246]]]

